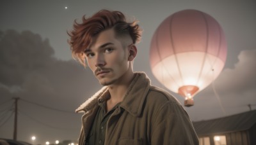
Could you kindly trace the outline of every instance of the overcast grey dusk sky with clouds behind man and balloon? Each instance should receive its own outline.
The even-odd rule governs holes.
[[[65,7],[67,6],[67,9]],[[150,41],[173,13],[204,11],[221,25],[227,61],[220,76],[185,107],[191,120],[209,120],[256,109],[256,1],[1,1],[0,138],[13,137],[13,98],[19,97],[17,138],[35,144],[76,141],[81,114],[74,110],[101,87],[89,69],[72,59],[67,31],[75,19],[101,9],[120,10],[143,28],[134,71],[164,87],[149,64]],[[214,93],[214,88],[215,92]],[[165,88],[167,90],[167,88]],[[184,99],[170,92],[183,104]],[[220,100],[218,100],[218,97]],[[223,109],[221,109],[221,104]]]

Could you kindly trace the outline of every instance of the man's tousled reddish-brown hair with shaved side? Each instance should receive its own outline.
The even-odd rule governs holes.
[[[129,34],[134,44],[140,42],[141,27],[138,21],[127,22],[125,15],[120,11],[100,10],[92,17],[83,16],[83,22],[79,24],[74,21],[73,30],[68,32],[70,39],[70,50],[74,59],[79,60],[86,67],[84,50],[92,43],[93,36],[100,32],[113,28],[116,36]]]

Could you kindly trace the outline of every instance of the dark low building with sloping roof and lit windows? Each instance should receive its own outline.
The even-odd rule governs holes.
[[[256,144],[256,110],[193,122],[200,145]]]

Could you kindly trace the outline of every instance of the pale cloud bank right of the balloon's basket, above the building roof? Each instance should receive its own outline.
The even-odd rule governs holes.
[[[224,69],[220,76],[195,96],[194,108],[188,109],[193,120],[216,118],[249,111],[256,106],[256,50],[244,50],[238,55],[234,69]],[[216,93],[214,93],[215,88]],[[220,97],[221,103],[217,97]],[[225,113],[221,110],[221,105]],[[204,112],[198,113],[198,109]],[[220,115],[222,114],[222,115]]]

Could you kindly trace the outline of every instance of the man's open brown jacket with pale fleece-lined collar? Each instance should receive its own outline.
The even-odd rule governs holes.
[[[90,131],[98,101],[106,99],[108,94],[105,86],[76,109],[84,112],[79,145],[84,144]],[[136,72],[124,100],[108,120],[105,144],[192,145],[198,144],[198,137],[178,100],[161,88],[151,86],[145,73]]]

